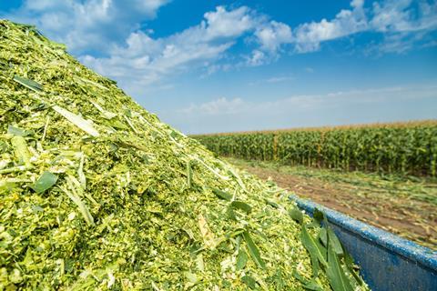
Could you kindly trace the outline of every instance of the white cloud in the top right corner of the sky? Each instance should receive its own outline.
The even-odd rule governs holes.
[[[335,18],[299,25],[293,33],[298,53],[320,50],[320,44],[360,32],[380,32],[384,41],[376,45],[378,54],[403,53],[437,29],[437,3],[425,0],[385,0],[364,7],[363,0],[352,0],[351,10],[341,10]]]

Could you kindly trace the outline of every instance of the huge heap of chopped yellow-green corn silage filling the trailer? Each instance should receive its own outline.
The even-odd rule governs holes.
[[[0,290],[367,290],[287,196],[0,21]]]

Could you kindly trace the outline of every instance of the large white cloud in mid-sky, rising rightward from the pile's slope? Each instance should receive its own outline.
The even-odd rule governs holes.
[[[84,55],[81,60],[121,84],[150,85],[165,75],[188,68],[205,67],[207,74],[203,76],[229,69],[229,64],[214,63],[222,59],[239,38],[250,34],[258,37],[259,49],[246,56],[245,63],[262,65],[276,55],[280,45],[290,43],[291,30],[288,25],[268,21],[264,15],[257,15],[246,6],[236,9],[218,6],[205,13],[199,25],[177,34],[152,38],[141,31],[133,32],[126,44],[113,47],[108,57]],[[130,77],[123,80],[123,75]]]

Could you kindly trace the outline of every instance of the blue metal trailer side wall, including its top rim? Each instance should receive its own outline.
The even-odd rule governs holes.
[[[325,213],[372,290],[437,291],[437,252],[297,196],[290,199],[310,216],[315,208]]]

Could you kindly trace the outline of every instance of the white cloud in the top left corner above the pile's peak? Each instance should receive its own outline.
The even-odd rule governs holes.
[[[169,0],[25,0],[5,18],[33,24],[74,54],[107,52]]]

